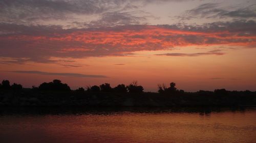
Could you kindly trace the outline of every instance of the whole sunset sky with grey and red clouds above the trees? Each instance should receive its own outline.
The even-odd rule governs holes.
[[[4,79],[256,91],[256,1],[1,0]]]

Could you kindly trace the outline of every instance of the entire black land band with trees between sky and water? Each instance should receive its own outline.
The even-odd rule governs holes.
[[[110,83],[71,90],[55,79],[39,87],[25,89],[8,80],[0,83],[0,106],[256,106],[256,92],[212,91],[184,92],[171,82],[158,85],[158,93],[143,92],[137,81],[129,85]]]

